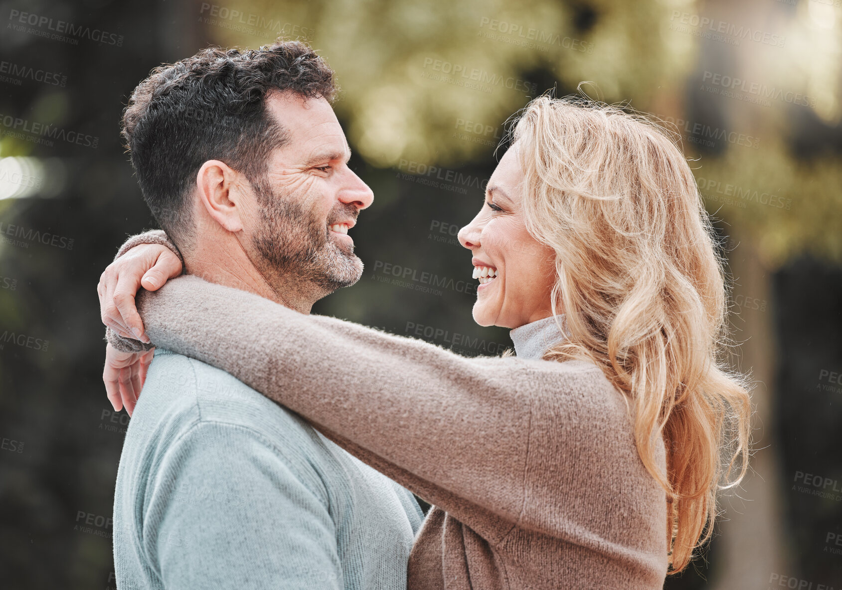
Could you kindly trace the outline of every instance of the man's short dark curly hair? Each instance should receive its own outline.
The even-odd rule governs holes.
[[[195,243],[189,196],[202,164],[221,160],[255,184],[269,153],[289,141],[265,106],[274,91],[332,101],[333,71],[299,41],[208,47],[156,67],[131,94],[125,147],[152,215],[183,251]]]

